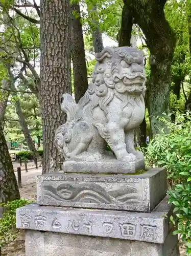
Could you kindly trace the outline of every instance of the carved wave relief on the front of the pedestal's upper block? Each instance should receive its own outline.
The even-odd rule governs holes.
[[[140,203],[138,191],[135,187],[127,186],[124,190],[112,190],[107,192],[98,184],[61,184],[57,188],[51,185],[43,185],[43,198],[54,201],[71,201],[81,203]]]

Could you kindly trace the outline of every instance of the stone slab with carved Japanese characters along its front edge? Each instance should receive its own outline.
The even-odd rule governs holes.
[[[166,198],[160,205],[148,214],[31,204],[16,210],[16,227],[162,244],[170,231],[171,205]]]

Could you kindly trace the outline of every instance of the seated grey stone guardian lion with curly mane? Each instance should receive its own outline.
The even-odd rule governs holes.
[[[135,151],[134,130],[145,116],[144,54],[131,47],[106,47],[96,59],[79,103],[63,95],[61,108],[67,121],[56,131],[56,145],[66,161],[142,159],[142,153]],[[108,154],[107,144],[115,156]]]

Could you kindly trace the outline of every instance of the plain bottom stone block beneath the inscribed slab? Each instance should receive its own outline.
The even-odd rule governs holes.
[[[176,236],[163,244],[79,236],[37,230],[25,231],[26,256],[179,256]]]

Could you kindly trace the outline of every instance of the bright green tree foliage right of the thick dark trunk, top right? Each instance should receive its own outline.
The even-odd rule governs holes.
[[[177,96],[171,94],[170,98],[170,111],[174,114],[179,110],[184,110],[185,98],[190,93],[190,70],[191,70],[191,58],[189,51],[189,13],[190,13],[190,1],[184,0],[170,0],[165,5],[165,16],[171,27],[176,33],[176,48],[174,52],[174,58],[172,61],[172,90],[177,87],[178,82],[181,82],[181,86],[184,88],[180,90],[180,99],[177,100]],[[189,81],[188,81],[189,79]],[[176,84],[177,83],[177,84]],[[177,91],[177,90],[176,90]]]

